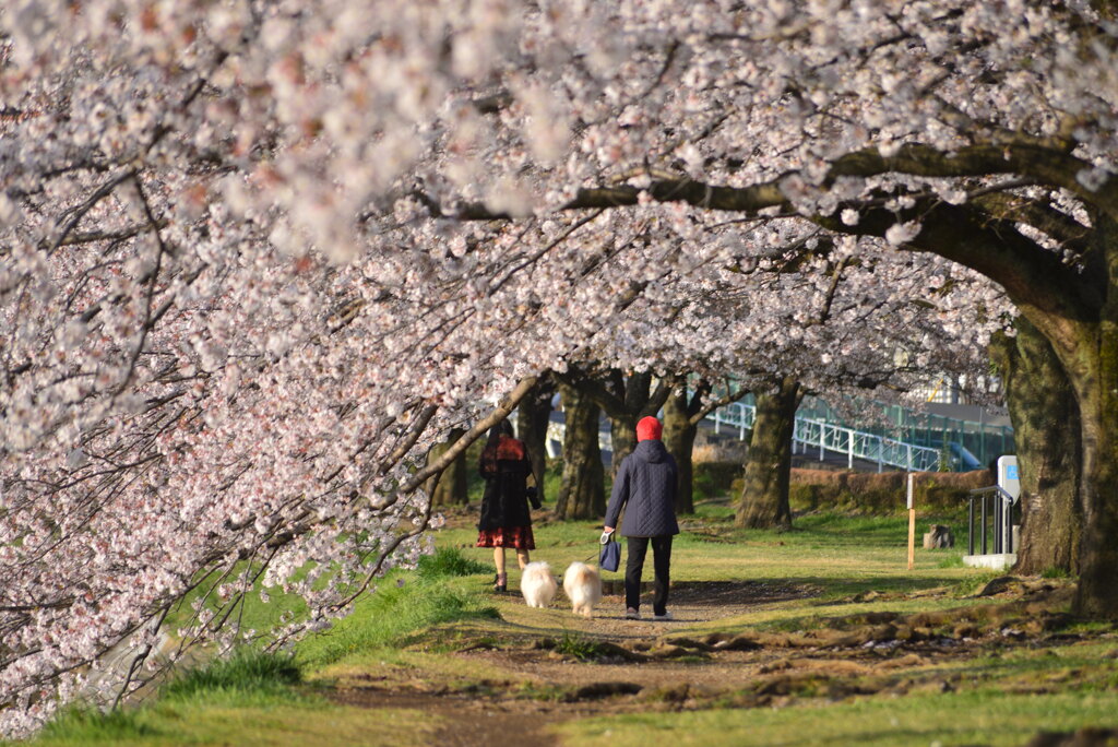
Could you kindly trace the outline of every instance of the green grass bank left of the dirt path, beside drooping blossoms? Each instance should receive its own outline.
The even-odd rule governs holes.
[[[335,706],[302,685],[303,674],[395,647],[439,624],[493,616],[486,597],[471,588],[476,586],[471,576],[487,571],[457,550],[440,548],[416,571],[383,579],[350,616],[300,642],[294,656],[241,649],[184,671],[139,708],[108,713],[67,708],[31,744],[426,744],[438,719]],[[249,597],[246,614],[257,615],[258,605],[269,606]],[[427,727],[416,729],[417,720]]]

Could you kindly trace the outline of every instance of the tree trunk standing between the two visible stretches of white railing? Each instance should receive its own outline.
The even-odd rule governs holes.
[[[776,390],[757,396],[757,418],[736,517],[739,527],[792,528],[788,484],[798,405],[799,382],[792,377],[786,377]]]

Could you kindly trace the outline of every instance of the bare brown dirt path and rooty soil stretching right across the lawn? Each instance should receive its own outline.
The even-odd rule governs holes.
[[[1068,616],[1058,609],[1070,588],[1044,580],[992,590],[996,604],[852,613],[832,621],[835,628],[702,632],[712,627],[703,624],[815,594],[807,586],[757,581],[681,583],[670,602],[675,620],[666,623],[625,620],[618,595],[606,596],[593,620],[574,616],[562,595],[546,609],[501,595],[494,598],[502,621],[465,635],[455,627],[456,650],[445,654],[459,664],[455,674],[402,668],[357,675],[339,683],[334,698],[438,717],[440,745],[489,745],[502,735],[557,745],[550,726],[600,715],[947,692],[965,683],[942,665],[969,660],[984,646],[1035,647],[1081,636],[1059,632]],[[463,679],[462,671],[476,675]]]

